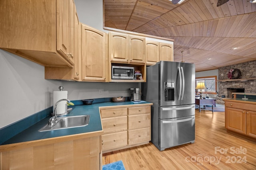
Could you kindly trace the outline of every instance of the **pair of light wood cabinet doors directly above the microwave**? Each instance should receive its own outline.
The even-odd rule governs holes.
[[[109,52],[111,62],[144,64],[146,59],[146,38],[110,31]]]

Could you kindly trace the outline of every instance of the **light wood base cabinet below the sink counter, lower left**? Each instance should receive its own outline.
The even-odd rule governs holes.
[[[100,170],[100,135],[70,135],[0,146],[1,170]]]

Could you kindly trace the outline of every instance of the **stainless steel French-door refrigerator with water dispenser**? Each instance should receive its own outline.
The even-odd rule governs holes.
[[[195,65],[160,61],[146,68],[143,100],[152,102],[151,142],[159,149],[194,143]]]

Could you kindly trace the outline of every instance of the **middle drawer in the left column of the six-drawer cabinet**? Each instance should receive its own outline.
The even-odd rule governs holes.
[[[127,116],[102,119],[104,134],[127,131]]]

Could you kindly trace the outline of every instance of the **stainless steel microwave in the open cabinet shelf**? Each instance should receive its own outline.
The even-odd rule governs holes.
[[[134,79],[134,67],[112,66],[112,79]]]

